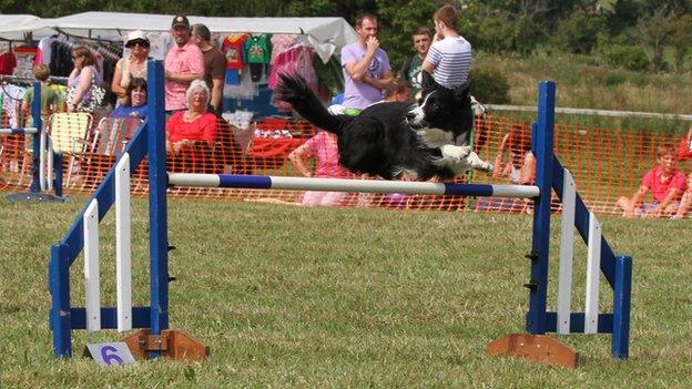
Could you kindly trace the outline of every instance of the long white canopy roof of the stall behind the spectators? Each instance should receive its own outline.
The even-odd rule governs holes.
[[[55,19],[33,16],[0,16],[0,39],[21,40],[31,32],[34,39],[63,32],[70,35],[120,41],[128,32],[169,31],[172,14],[83,12]],[[7,19],[6,19],[7,18]],[[319,58],[329,57],[358,40],[356,31],[343,18],[212,18],[189,17],[212,32],[256,32],[305,34]]]

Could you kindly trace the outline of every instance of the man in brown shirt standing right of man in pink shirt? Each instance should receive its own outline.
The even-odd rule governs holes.
[[[212,91],[210,110],[216,116],[221,116],[223,111],[221,98],[226,75],[226,58],[212,43],[212,32],[204,24],[194,24],[192,27],[192,41],[200,48],[204,58],[204,82]]]

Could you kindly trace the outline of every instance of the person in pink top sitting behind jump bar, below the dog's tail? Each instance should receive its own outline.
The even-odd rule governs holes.
[[[305,160],[312,156],[316,160],[314,174],[305,166]],[[350,172],[338,163],[336,135],[326,131],[320,131],[291,152],[288,160],[306,177],[348,178],[352,176]],[[307,191],[303,194],[303,205],[337,206],[342,205],[347,196],[345,192]]]

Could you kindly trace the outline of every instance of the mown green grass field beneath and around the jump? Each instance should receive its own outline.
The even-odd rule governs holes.
[[[325,209],[171,201],[171,327],[211,346],[202,364],[140,361],[101,368],[73,332],[71,360],[52,356],[49,245],[83,206],[0,201],[0,387],[649,387],[692,385],[690,221],[601,221],[615,253],[634,258],[631,358],[607,335],[561,340],[576,370],[486,355],[523,331],[531,219],[520,215]],[[135,305],[147,304],[146,203],[133,202]],[[102,304],[113,305],[113,216],[102,223]],[[559,218],[552,242],[558,243]],[[551,279],[557,249],[551,249]],[[583,307],[586,250],[576,250],[574,309]],[[553,260],[554,259],[554,260]],[[82,260],[71,272],[83,304]],[[602,281],[602,310],[611,294]],[[549,306],[554,308],[556,284]],[[579,308],[578,308],[579,307]]]

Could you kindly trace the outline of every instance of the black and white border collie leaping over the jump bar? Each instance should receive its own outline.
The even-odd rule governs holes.
[[[427,74],[427,73],[426,73]],[[445,89],[424,75],[420,104],[377,103],[358,116],[333,115],[305,80],[282,74],[276,99],[289,103],[308,122],[337,135],[339,163],[354,173],[385,180],[450,180],[469,168],[491,172],[492,165],[468,146],[472,113],[470,83]]]

